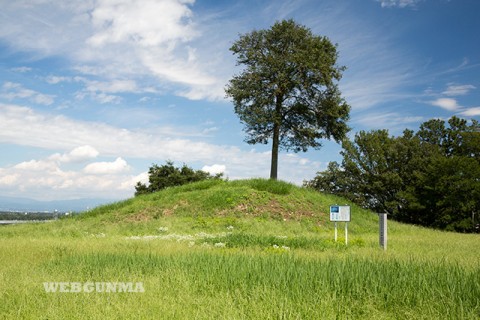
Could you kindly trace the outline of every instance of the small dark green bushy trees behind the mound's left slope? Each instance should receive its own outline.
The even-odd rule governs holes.
[[[172,161],[166,161],[164,165],[153,164],[148,169],[148,184],[137,182],[135,196],[160,191],[168,187],[175,187],[187,183],[220,179],[223,174],[211,175],[202,170],[194,170],[183,164],[182,167],[175,167]]]

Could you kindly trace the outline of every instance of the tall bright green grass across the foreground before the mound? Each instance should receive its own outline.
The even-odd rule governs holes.
[[[43,243],[45,245],[46,243]],[[83,245],[87,245],[83,243]],[[41,249],[3,280],[5,318],[476,319],[478,269],[420,259],[93,241]],[[124,248],[120,246],[124,245]],[[335,249],[332,249],[335,253]],[[46,293],[44,281],[142,281],[145,293]],[[73,308],[72,308],[73,306]]]

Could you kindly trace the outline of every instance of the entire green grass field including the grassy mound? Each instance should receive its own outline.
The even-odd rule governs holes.
[[[478,235],[389,221],[385,252],[378,217],[352,205],[345,245],[343,224],[333,241],[332,204],[347,202],[283,182],[206,181],[2,226],[0,318],[480,318]]]

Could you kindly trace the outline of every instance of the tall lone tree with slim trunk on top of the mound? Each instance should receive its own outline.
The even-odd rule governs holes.
[[[320,139],[341,141],[350,107],[337,86],[344,67],[326,37],[293,20],[241,35],[230,50],[245,69],[225,89],[245,125],[249,144],[272,141],[270,178],[277,178],[280,148],[319,149]]]

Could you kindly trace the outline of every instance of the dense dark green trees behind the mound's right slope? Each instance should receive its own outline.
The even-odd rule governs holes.
[[[407,223],[474,232],[480,221],[480,126],[432,119],[415,133],[361,131],[308,187]],[[478,230],[477,230],[478,231]]]

